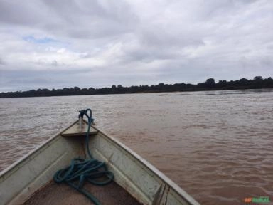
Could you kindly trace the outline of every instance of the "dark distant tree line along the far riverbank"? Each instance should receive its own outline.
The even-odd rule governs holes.
[[[122,85],[112,85],[111,88],[63,88],[48,90],[28,90],[0,93],[0,98],[21,98],[21,97],[41,97],[41,96],[64,96],[64,95],[103,95],[103,94],[122,94],[122,93],[159,93],[159,92],[176,92],[176,91],[200,91],[200,90],[239,90],[239,89],[259,89],[273,88],[273,79],[271,77],[263,79],[256,76],[252,80],[242,78],[240,80],[219,80],[215,83],[213,78],[205,80],[204,83],[197,85],[186,83],[158,85],[140,85],[123,87]]]

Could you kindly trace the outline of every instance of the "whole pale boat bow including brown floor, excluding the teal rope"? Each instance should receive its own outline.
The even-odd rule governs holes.
[[[19,162],[0,173],[0,201],[4,204],[92,204],[67,184],[56,184],[53,175],[75,157],[86,157],[85,135],[88,123],[79,128],[77,120]],[[79,130],[81,129],[81,130]],[[89,183],[84,188],[102,204],[198,204],[124,144],[90,128],[89,147],[95,159],[105,162],[114,182],[105,186]],[[23,177],[22,177],[23,176]],[[12,191],[11,191],[12,190]]]

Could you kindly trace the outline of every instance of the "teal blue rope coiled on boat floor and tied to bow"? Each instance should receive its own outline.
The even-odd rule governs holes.
[[[83,185],[86,181],[99,186],[109,184],[109,182],[112,182],[114,179],[114,174],[108,171],[105,162],[100,162],[92,157],[89,148],[90,125],[94,121],[94,119],[92,119],[92,110],[80,110],[79,118],[83,118],[84,116],[86,116],[88,120],[85,146],[90,159],[78,157],[71,160],[70,166],[56,172],[53,179],[56,183],[67,183],[87,196],[94,204],[100,205],[100,201],[98,201],[89,191],[84,189]]]

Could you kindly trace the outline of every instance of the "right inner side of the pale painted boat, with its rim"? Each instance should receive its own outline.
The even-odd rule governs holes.
[[[109,169],[114,172],[117,184],[127,189],[136,199],[144,204],[199,204],[139,154],[114,137],[100,131],[97,127],[92,127],[98,131],[97,137],[90,139],[93,156],[107,162]],[[102,139],[108,142],[102,142]],[[100,142],[95,142],[96,140]],[[114,148],[110,149],[111,145],[108,143],[112,144]],[[122,160],[124,163],[118,164]],[[121,175],[122,177],[120,177]]]

